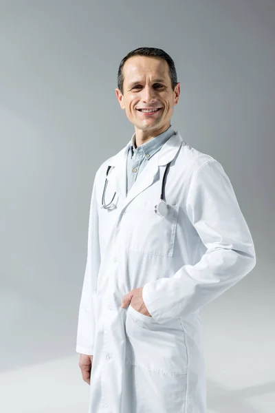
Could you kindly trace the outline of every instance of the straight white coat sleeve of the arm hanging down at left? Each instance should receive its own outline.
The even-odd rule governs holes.
[[[89,210],[87,262],[78,313],[76,352],[93,355],[96,330],[96,290],[100,267],[98,237],[98,208],[96,203],[96,178],[91,193]]]

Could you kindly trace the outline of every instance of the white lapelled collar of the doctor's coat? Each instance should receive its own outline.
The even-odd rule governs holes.
[[[107,176],[108,185],[118,194],[118,197],[122,199],[121,207],[124,209],[139,193],[148,188],[155,180],[159,173],[159,167],[165,166],[168,162],[172,161],[179,147],[181,147],[183,140],[179,131],[176,131],[162,146],[161,149],[153,156],[148,162],[146,167],[137,177],[137,180],[133,183],[130,191],[126,195],[126,162],[129,147],[131,146],[131,140],[127,145],[119,151],[115,156],[112,156],[108,160],[108,165],[114,167],[110,169]]]

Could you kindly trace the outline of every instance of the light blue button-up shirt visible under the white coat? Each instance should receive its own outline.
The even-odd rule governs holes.
[[[146,167],[148,161],[152,158],[164,143],[173,135],[175,131],[172,126],[168,127],[166,131],[155,136],[155,138],[148,140],[139,147],[135,146],[135,134],[133,134],[131,146],[127,156],[127,187],[126,193],[129,192],[133,183],[137,180],[138,174]]]

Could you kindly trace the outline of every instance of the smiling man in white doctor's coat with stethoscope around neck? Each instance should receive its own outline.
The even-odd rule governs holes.
[[[135,134],[91,193],[76,345],[89,413],[206,413],[199,310],[254,268],[252,236],[219,161],[170,125],[170,56],[133,50],[115,92]]]

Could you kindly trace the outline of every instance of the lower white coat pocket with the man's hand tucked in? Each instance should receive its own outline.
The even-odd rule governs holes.
[[[130,304],[125,328],[126,364],[168,376],[186,374],[186,339],[178,318],[159,324]]]

